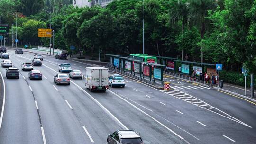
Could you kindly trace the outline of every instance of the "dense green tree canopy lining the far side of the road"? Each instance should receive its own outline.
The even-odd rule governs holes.
[[[18,12],[18,39],[49,45],[38,38],[38,27],[49,27],[51,10],[55,46],[91,55],[145,52],[206,63],[223,63],[226,69],[242,65],[256,72],[255,0],[116,0],[107,8],[74,8],[72,0],[1,0],[2,22],[14,24]],[[4,10],[3,10],[4,9]],[[16,27],[13,27],[16,28]],[[201,59],[203,56],[203,59]],[[239,69],[238,69],[239,68]]]

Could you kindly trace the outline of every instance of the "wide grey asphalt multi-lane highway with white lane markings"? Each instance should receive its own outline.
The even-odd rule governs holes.
[[[134,129],[145,144],[255,144],[256,104],[167,76],[171,91],[125,77],[125,88],[90,92],[84,80],[56,85],[58,65],[68,62],[85,74],[99,63],[45,56],[43,80],[29,80],[21,63],[32,53],[8,49],[20,79],[6,79],[0,144],[106,144],[107,135]],[[1,89],[1,91],[3,91]]]

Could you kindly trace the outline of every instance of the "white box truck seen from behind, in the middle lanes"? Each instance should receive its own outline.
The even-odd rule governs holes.
[[[109,69],[104,67],[86,67],[85,86],[91,91],[109,89]]]

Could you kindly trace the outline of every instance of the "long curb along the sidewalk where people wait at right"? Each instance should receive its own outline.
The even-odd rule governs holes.
[[[168,74],[165,74],[165,75],[168,75]],[[172,77],[175,77],[175,78],[178,78],[178,79],[181,79],[181,80],[186,80],[186,81],[190,81],[190,82],[193,82],[193,83],[202,85],[202,86],[207,86],[207,87],[209,87],[207,84],[203,84],[203,83],[200,83],[200,82],[191,81],[191,80],[184,79],[184,78],[180,78],[180,77],[176,77],[176,76],[173,76],[173,75],[168,75],[168,76],[172,76]],[[255,100],[255,99],[252,99],[252,98],[243,96],[243,95],[241,95],[241,94],[238,94],[238,93],[235,93],[235,92],[232,92],[232,91],[229,91],[229,90],[224,90],[224,89],[217,88],[217,87],[209,87],[209,88],[213,88],[214,90],[220,90],[220,91],[223,91],[223,92],[227,92],[227,93],[229,93],[229,94],[232,94],[232,95],[235,95],[235,96],[238,96],[238,97],[240,97],[240,98],[247,99],[247,100],[249,100],[249,101],[251,101],[251,102],[256,103],[256,100]]]

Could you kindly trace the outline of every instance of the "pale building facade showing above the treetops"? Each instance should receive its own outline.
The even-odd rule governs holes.
[[[101,7],[106,7],[110,2],[114,0],[73,0],[73,5],[82,7],[92,7],[99,5]]]

